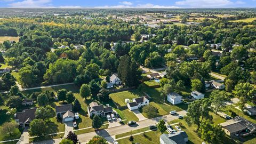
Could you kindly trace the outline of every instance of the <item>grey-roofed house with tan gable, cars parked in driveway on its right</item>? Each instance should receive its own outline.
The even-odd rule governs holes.
[[[105,107],[103,105],[98,105],[97,102],[91,102],[89,107],[87,107],[87,112],[90,117],[93,115],[106,116],[108,114],[113,113],[112,107]]]

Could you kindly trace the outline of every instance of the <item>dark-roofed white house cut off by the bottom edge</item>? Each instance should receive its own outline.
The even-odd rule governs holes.
[[[186,144],[188,135],[185,131],[178,131],[171,134],[162,134],[159,137],[161,144]]]

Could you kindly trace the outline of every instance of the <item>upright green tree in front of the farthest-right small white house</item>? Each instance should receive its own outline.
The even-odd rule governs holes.
[[[217,114],[219,109],[226,106],[228,96],[225,91],[213,90],[210,94],[210,99],[212,102],[212,108],[215,111],[215,114]]]

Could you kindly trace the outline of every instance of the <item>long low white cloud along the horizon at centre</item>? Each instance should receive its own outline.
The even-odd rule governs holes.
[[[173,8],[180,8],[178,6],[163,6],[163,5],[154,5],[154,4],[138,4],[136,6],[131,5],[105,5],[105,6],[97,6],[95,8],[105,8],[105,9],[122,9],[122,8],[135,8],[135,9],[143,9],[143,8],[153,8],[153,9],[173,9]]]

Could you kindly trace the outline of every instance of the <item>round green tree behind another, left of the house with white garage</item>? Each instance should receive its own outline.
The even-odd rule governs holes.
[[[55,111],[51,106],[39,107],[35,111],[35,116],[38,119],[49,119],[55,116]]]

